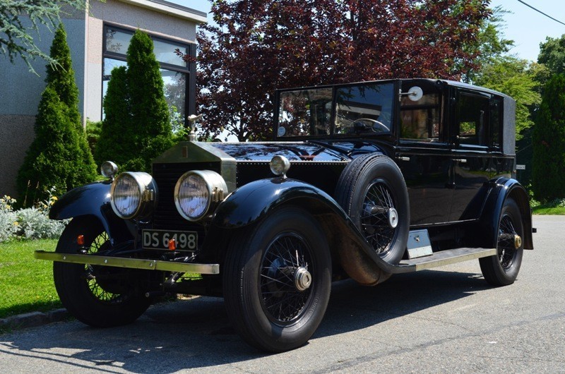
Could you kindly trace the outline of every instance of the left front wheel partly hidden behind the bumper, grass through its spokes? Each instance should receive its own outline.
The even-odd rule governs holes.
[[[77,236],[84,236],[84,245]],[[109,248],[109,238],[96,219],[75,218],[57,243],[56,252],[95,254]],[[127,270],[125,270],[127,272]],[[81,322],[93,327],[113,327],[135,321],[150,300],[136,287],[133,277],[116,267],[53,263],[53,277],[61,303]]]

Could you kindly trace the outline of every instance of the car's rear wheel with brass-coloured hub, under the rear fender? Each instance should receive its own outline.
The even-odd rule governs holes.
[[[497,254],[479,259],[482,275],[489,284],[507,286],[516,280],[522,265],[523,236],[520,208],[516,201],[507,198],[500,214]]]

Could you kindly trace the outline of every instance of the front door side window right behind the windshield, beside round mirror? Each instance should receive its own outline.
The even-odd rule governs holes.
[[[433,85],[419,85],[424,92],[421,99],[413,101],[408,96],[400,100],[400,138],[437,141],[441,135],[441,93]],[[408,92],[410,87],[403,87]]]

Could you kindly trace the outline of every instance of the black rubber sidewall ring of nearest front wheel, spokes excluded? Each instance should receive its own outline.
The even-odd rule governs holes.
[[[302,346],[319,326],[328,304],[331,289],[331,255],[326,244],[326,238],[321,229],[312,230],[318,226],[311,216],[299,208],[283,207],[268,216],[252,231],[247,239],[249,248],[239,248],[245,251],[242,256],[242,271],[238,282],[241,282],[242,318],[247,332],[243,337],[250,337],[248,342],[260,349],[268,351],[286,351]],[[266,249],[279,234],[294,232],[307,242],[310,248],[312,274],[311,296],[307,306],[298,320],[289,325],[279,325],[271,321],[261,302],[260,273]],[[237,248],[232,248],[237,249]],[[224,282],[234,282],[225,279]],[[227,296],[230,297],[230,296]]]

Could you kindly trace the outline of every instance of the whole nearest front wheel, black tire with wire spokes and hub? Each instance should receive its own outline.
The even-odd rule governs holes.
[[[224,269],[227,313],[248,344],[288,351],[314,334],[330,296],[331,255],[308,212],[283,207],[239,232]]]

